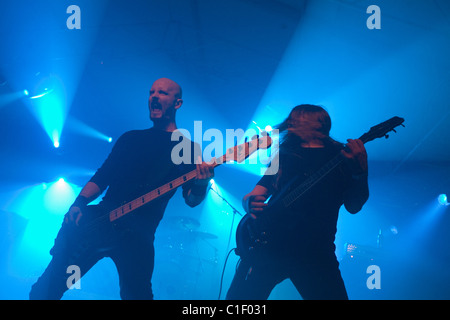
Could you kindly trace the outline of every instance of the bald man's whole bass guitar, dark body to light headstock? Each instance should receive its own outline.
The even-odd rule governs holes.
[[[227,149],[227,152],[216,160],[214,167],[228,161],[240,163],[257,150],[270,148],[271,144],[272,139],[267,134],[262,135],[261,138],[253,138],[251,141]],[[130,232],[136,232],[137,229],[152,234],[152,231],[147,229],[148,226],[144,221],[146,219],[142,219],[141,215],[147,212],[137,213],[138,209],[157,199],[162,199],[196,177],[195,169],[119,207],[106,202],[87,206],[83,209],[83,216],[78,226],[74,223],[63,223],[50,253],[52,255],[64,253],[69,256],[70,261],[76,263],[75,261],[81,255],[98,254],[116,247],[130,235]],[[153,218],[159,223],[158,219],[162,216]]]

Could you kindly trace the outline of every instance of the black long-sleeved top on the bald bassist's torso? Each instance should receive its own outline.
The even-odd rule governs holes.
[[[171,141],[171,135],[155,128],[124,133],[90,180],[102,191],[108,188],[100,206],[113,210],[194,170],[194,148],[199,148],[198,144],[189,141],[190,163],[176,165],[171,154],[180,142]],[[174,193],[175,190],[170,191],[120,219],[132,221],[133,228],[154,232]]]

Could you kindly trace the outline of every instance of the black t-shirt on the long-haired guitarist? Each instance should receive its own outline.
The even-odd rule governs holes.
[[[325,148],[294,147],[279,154],[279,171],[265,175],[258,182],[268,189],[273,201],[286,195],[283,187],[291,184],[292,190],[320,170],[340,151],[340,145]],[[339,208],[344,202],[344,192],[350,186],[351,174],[341,164],[296,200],[284,212],[276,212],[282,223],[278,232],[276,254],[280,256],[317,257],[335,251],[336,224]],[[295,181],[295,182],[292,182]],[[281,193],[281,194],[280,194]],[[269,205],[271,202],[269,201]]]

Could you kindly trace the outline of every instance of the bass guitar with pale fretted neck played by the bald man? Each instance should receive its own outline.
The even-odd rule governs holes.
[[[261,137],[254,137],[248,142],[227,149],[222,157],[214,161],[213,167],[216,168],[230,161],[241,163],[255,151],[268,149],[271,145],[272,139],[263,133]],[[117,235],[121,230],[121,218],[131,216],[136,209],[164,196],[196,177],[197,171],[194,169],[159,188],[106,212],[102,212],[104,209],[98,206],[88,206],[84,209],[87,212],[83,214],[79,226],[63,224],[55,241],[55,246],[62,244],[64,250],[77,251],[78,253],[93,246],[98,250],[106,250],[113,244],[113,241],[118,239]]]

